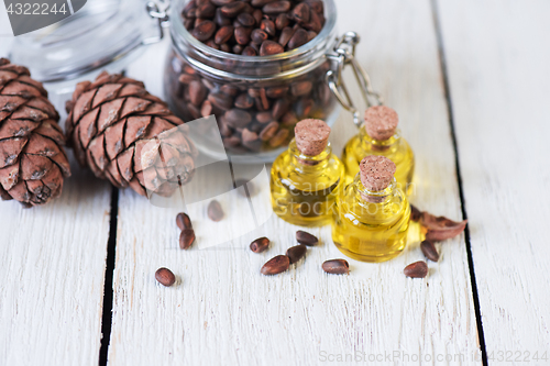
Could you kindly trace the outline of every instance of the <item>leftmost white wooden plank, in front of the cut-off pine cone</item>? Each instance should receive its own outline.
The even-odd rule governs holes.
[[[111,187],[72,169],[44,207],[0,202],[0,365],[98,363]]]

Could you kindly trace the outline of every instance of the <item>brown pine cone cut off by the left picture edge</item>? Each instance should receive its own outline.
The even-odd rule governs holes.
[[[0,58],[0,197],[24,207],[62,193],[70,176],[59,114],[29,69]]]

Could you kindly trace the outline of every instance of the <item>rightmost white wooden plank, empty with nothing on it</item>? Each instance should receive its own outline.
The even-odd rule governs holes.
[[[550,351],[550,3],[438,7],[486,351],[494,364],[499,352],[541,356]]]

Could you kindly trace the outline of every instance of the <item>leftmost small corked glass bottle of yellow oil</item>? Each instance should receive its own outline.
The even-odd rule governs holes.
[[[273,163],[273,211],[289,223],[318,226],[332,220],[344,167],[332,154],[329,134],[330,127],[321,120],[298,122],[296,137]]]

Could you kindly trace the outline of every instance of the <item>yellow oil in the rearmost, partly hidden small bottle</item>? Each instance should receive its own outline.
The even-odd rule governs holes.
[[[364,126],[360,129],[359,134],[345,144],[342,153],[346,185],[353,181],[353,178],[359,173],[359,163],[367,155],[382,155],[394,162],[397,167],[395,171],[397,187],[407,196],[413,193],[415,155],[407,141],[400,136],[399,131],[386,141],[377,141],[369,136]]]

